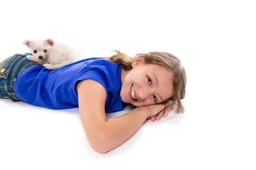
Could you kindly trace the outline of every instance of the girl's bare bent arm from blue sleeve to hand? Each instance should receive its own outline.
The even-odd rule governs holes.
[[[77,84],[81,122],[91,147],[106,153],[125,142],[152,115],[160,112],[165,105],[151,108],[135,108],[122,116],[107,120],[105,113],[105,88],[92,79]],[[150,113],[150,114],[149,114]]]

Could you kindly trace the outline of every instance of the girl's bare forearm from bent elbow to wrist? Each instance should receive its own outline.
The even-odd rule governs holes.
[[[104,140],[105,152],[118,147],[134,134],[148,118],[147,110],[143,107],[115,118],[105,123]]]

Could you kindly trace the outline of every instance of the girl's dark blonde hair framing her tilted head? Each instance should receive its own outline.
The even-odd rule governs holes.
[[[116,51],[116,50],[113,50]],[[185,97],[186,88],[186,71],[185,68],[180,65],[180,59],[176,56],[167,52],[149,52],[137,54],[134,58],[128,55],[116,51],[117,54],[108,57],[107,60],[111,62],[119,63],[125,71],[132,69],[132,62],[134,58],[142,56],[146,64],[156,64],[161,65],[174,73],[173,85],[174,85],[174,95],[169,99],[164,100],[164,102],[171,101],[171,108],[177,105],[175,112],[180,113],[184,111],[181,99]],[[173,108],[172,108],[173,109]]]

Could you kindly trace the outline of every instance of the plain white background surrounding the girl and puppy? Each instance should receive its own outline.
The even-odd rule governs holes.
[[[253,1],[4,1],[0,61],[52,38],[82,59],[118,50],[170,52],[186,68],[183,114],[146,121],[124,144],[97,153],[79,110],[0,99],[0,170],[256,169]],[[130,111],[110,113],[108,118]]]

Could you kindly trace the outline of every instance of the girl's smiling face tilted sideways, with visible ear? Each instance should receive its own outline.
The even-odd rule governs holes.
[[[122,101],[137,107],[163,102],[174,94],[173,73],[143,61],[143,57],[134,59],[132,69],[122,71],[121,77]]]

